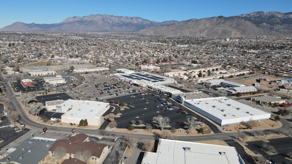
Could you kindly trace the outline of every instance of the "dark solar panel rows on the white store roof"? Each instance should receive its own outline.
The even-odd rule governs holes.
[[[166,81],[165,78],[158,77],[156,75],[150,75],[147,73],[132,73],[132,74],[122,75],[122,76],[125,78],[132,79],[132,80],[146,80],[146,81],[151,81],[153,83]]]

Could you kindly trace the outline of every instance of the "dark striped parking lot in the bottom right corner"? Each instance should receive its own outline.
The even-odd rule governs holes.
[[[248,144],[246,147],[255,154],[261,154],[266,159],[274,160],[276,163],[292,163],[292,161],[285,159],[285,157],[288,157],[288,152],[292,152],[292,139],[290,137],[268,139],[268,141],[267,143],[275,148],[274,152],[277,154],[270,156],[262,150],[263,140],[246,142]]]

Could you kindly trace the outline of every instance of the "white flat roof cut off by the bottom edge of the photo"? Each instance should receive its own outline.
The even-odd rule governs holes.
[[[188,148],[189,151],[186,151]],[[168,139],[159,139],[157,152],[145,152],[142,163],[244,164],[235,147]]]

